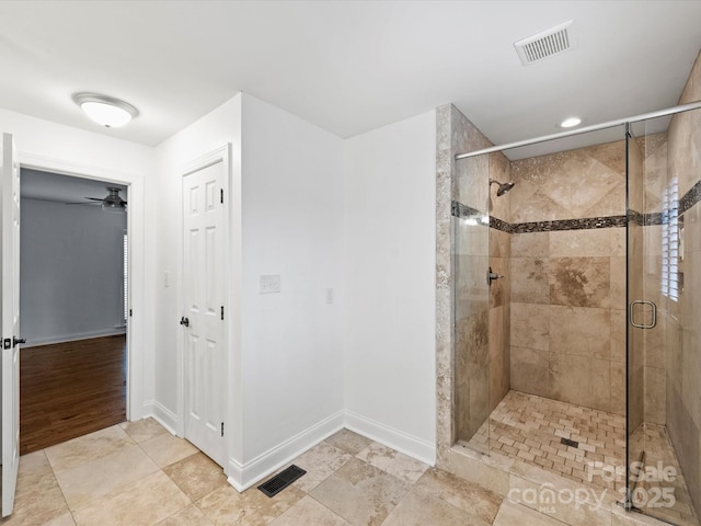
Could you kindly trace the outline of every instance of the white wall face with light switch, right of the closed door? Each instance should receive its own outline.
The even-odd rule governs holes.
[[[342,425],[343,139],[242,96],[243,459],[273,462]]]

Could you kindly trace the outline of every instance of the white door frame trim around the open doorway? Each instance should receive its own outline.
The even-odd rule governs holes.
[[[133,316],[127,320],[127,421],[145,414],[143,363],[146,351],[146,259],[145,259],[145,188],[141,176],[110,169],[24,153],[18,155],[20,169],[112,182],[127,186],[128,301]],[[21,279],[21,277],[20,277]]]

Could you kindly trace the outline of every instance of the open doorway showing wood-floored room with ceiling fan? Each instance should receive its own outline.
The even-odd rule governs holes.
[[[128,232],[126,186],[21,174],[24,455],[127,419]]]

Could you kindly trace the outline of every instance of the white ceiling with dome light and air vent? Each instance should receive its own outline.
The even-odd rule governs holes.
[[[513,43],[573,20],[576,46]],[[158,145],[240,91],[341,137],[452,102],[496,144],[677,103],[701,1],[1,1],[0,106]],[[72,103],[137,106],[100,128]],[[1,123],[0,123],[1,124]]]

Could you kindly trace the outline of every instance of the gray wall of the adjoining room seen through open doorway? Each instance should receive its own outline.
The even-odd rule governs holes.
[[[26,345],[124,333],[126,214],[22,198],[20,316]]]

